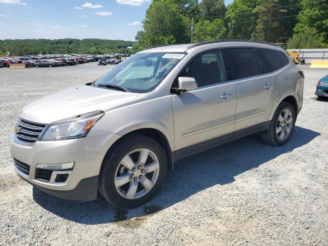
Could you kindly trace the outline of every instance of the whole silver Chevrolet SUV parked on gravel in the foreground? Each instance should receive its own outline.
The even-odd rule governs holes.
[[[285,144],[303,78],[267,43],[146,49],[92,83],[24,107],[11,143],[14,169],[64,201],[94,200],[99,190],[115,206],[136,207],[178,159],[256,132]]]

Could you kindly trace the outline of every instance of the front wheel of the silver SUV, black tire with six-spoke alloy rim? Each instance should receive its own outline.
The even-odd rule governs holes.
[[[107,152],[98,189],[114,206],[134,208],[155,196],[166,173],[163,148],[150,137],[134,134],[122,137]]]

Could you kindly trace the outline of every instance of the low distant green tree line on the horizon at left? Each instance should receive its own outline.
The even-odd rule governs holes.
[[[128,50],[127,47],[133,47]],[[108,54],[135,53],[136,42],[107,39],[5,39],[0,40],[0,54]]]

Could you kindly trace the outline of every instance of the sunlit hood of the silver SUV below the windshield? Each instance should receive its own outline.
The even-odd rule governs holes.
[[[49,124],[75,115],[106,110],[139,94],[91,86],[78,86],[57,92],[25,106],[21,118]]]

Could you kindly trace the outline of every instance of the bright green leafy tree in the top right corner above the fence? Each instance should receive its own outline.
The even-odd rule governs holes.
[[[306,30],[314,31],[323,37],[324,42],[328,40],[328,1],[302,0],[302,10],[299,12],[294,31],[302,33]]]

